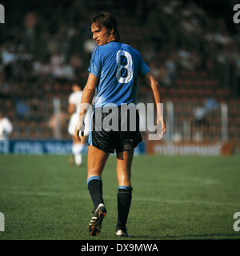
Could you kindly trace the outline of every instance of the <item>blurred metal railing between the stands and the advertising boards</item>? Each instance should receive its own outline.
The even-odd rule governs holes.
[[[150,97],[146,97],[149,101]],[[145,103],[145,102],[143,102]],[[212,109],[202,99],[164,102],[167,142],[240,142],[240,101],[216,102]],[[30,99],[17,102],[1,100],[1,110],[14,126],[13,139],[70,138],[67,133],[67,97]],[[17,110],[18,109],[18,110]],[[24,115],[25,113],[25,115]],[[196,114],[194,116],[194,113]],[[147,127],[147,126],[146,126]]]

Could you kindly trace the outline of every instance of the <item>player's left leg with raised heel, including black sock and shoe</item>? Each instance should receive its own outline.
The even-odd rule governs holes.
[[[106,207],[102,196],[102,170],[108,157],[109,153],[98,150],[98,148],[91,145],[88,147],[87,184],[94,204],[93,217],[89,226],[91,235],[97,235],[100,232],[102,220],[106,215]]]

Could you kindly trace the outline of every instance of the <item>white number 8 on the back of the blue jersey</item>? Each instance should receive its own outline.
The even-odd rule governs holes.
[[[122,64],[122,56],[126,58],[126,64]],[[125,50],[118,50],[117,54],[117,74],[116,78],[118,82],[126,83],[130,82],[133,78],[133,59],[132,56]],[[127,71],[126,76],[122,77],[122,70],[125,69]]]

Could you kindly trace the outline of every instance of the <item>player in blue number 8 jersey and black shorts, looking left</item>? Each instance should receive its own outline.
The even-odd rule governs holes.
[[[126,221],[128,218],[131,198],[131,166],[134,156],[134,148],[142,141],[138,129],[139,117],[135,115],[136,130],[110,130],[104,129],[106,109],[117,106],[118,111],[112,115],[113,122],[121,119],[121,107],[130,103],[136,103],[137,78],[140,76],[150,85],[154,94],[154,102],[162,103],[158,82],[150,74],[150,69],[143,61],[138,50],[119,42],[118,26],[112,14],[100,13],[90,22],[90,30],[93,39],[98,43],[94,49],[89,76],[82,93],[81,111],[78,124],[75,128],[75,138],[81,140],[83,118],[88,104],[97,95],[94,102],[92,129],[88,139],[87,160],[87,184],[90,196],[94,204],[93,217],[91,218],[89,231],[91,235],[99,234],[102,228],[102,220],[106,215],[106,206],[102,196],[102,171],[110,153],[116,152],[117,178],[118,178],[118,222],[116,234],[128,236]],[[161,104],[159,104],[161,105]],[[85,109],[86,108],[86,109]],[[116,113],[118,117],[116,119]],[[158,123],[162,124],[162,134],[166,131],[162,111],[158,112]],[[130,121],[129,116],[126,121]],[[120,120],[121,123],[121,120]],[[118,128],[119,128],[118,124]],[[102,128],[102,129],[101,129]],[[161,137],[161,135],[159,134]]]

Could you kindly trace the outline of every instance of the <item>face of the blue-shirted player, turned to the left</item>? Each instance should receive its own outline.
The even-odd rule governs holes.
[[[98,28],[94,23],[91,26],[91,32],[93,34],[93,39],[97,42],[98,46],[106,45],[113,39],[113,34],[110,34],[109,30],[106,30],[105,26]]]

